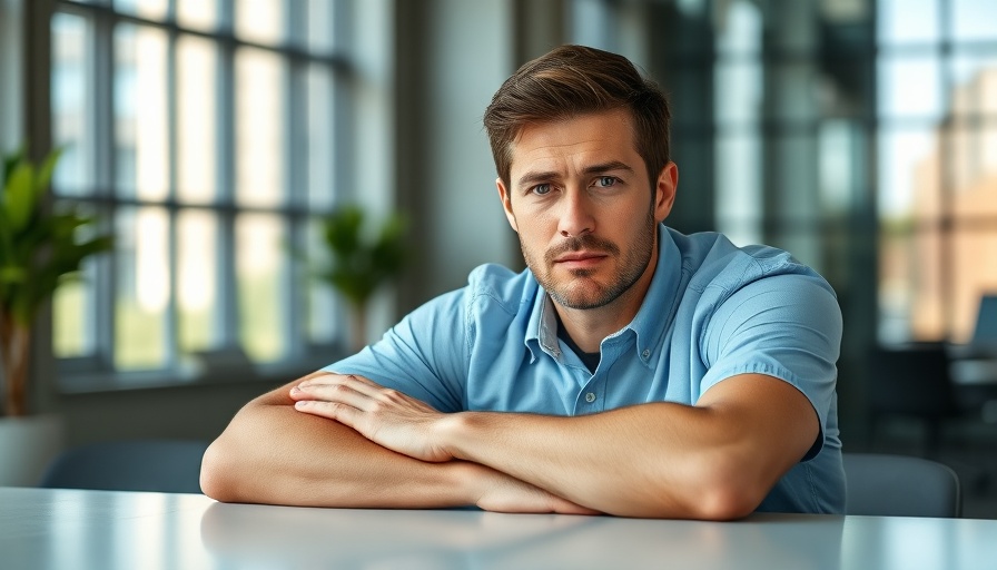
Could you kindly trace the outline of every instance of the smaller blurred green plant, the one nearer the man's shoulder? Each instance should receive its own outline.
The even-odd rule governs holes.
[[[365,226],[364,210],[345,205],[322,219],[323,243],[328,253],[315,276],[346,299],[354,350],[367,342],[367,305],[377,288],[396,278],[408,258],[405,220],[393,214],[376,229]]]

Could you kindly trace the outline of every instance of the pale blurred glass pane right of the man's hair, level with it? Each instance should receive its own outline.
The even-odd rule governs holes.
[[[758,120],[763,96],[759,60],[720,61],[715,67],[713,112],[721,125]]]

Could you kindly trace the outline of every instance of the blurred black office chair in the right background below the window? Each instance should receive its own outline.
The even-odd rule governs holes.
[[[920,421],[927,431],[925,454],[938,455],[945,422],[963,414],[955,397],[945,344],[918,343],[873,347],[869,353],[870,435],[889,416]]]

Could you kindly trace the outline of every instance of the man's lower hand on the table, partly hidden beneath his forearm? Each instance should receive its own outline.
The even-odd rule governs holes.
[[[480,485],[475,504],[486,511],[601,514],[501,471],[474,463],[468,466],[474,469],[471,475],[474,478],[474,484]]]

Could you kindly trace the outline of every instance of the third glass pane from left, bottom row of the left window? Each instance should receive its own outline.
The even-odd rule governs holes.
[[[177,217],[177,309],[182,352],[219,347],[218,219],[206,210]]]

